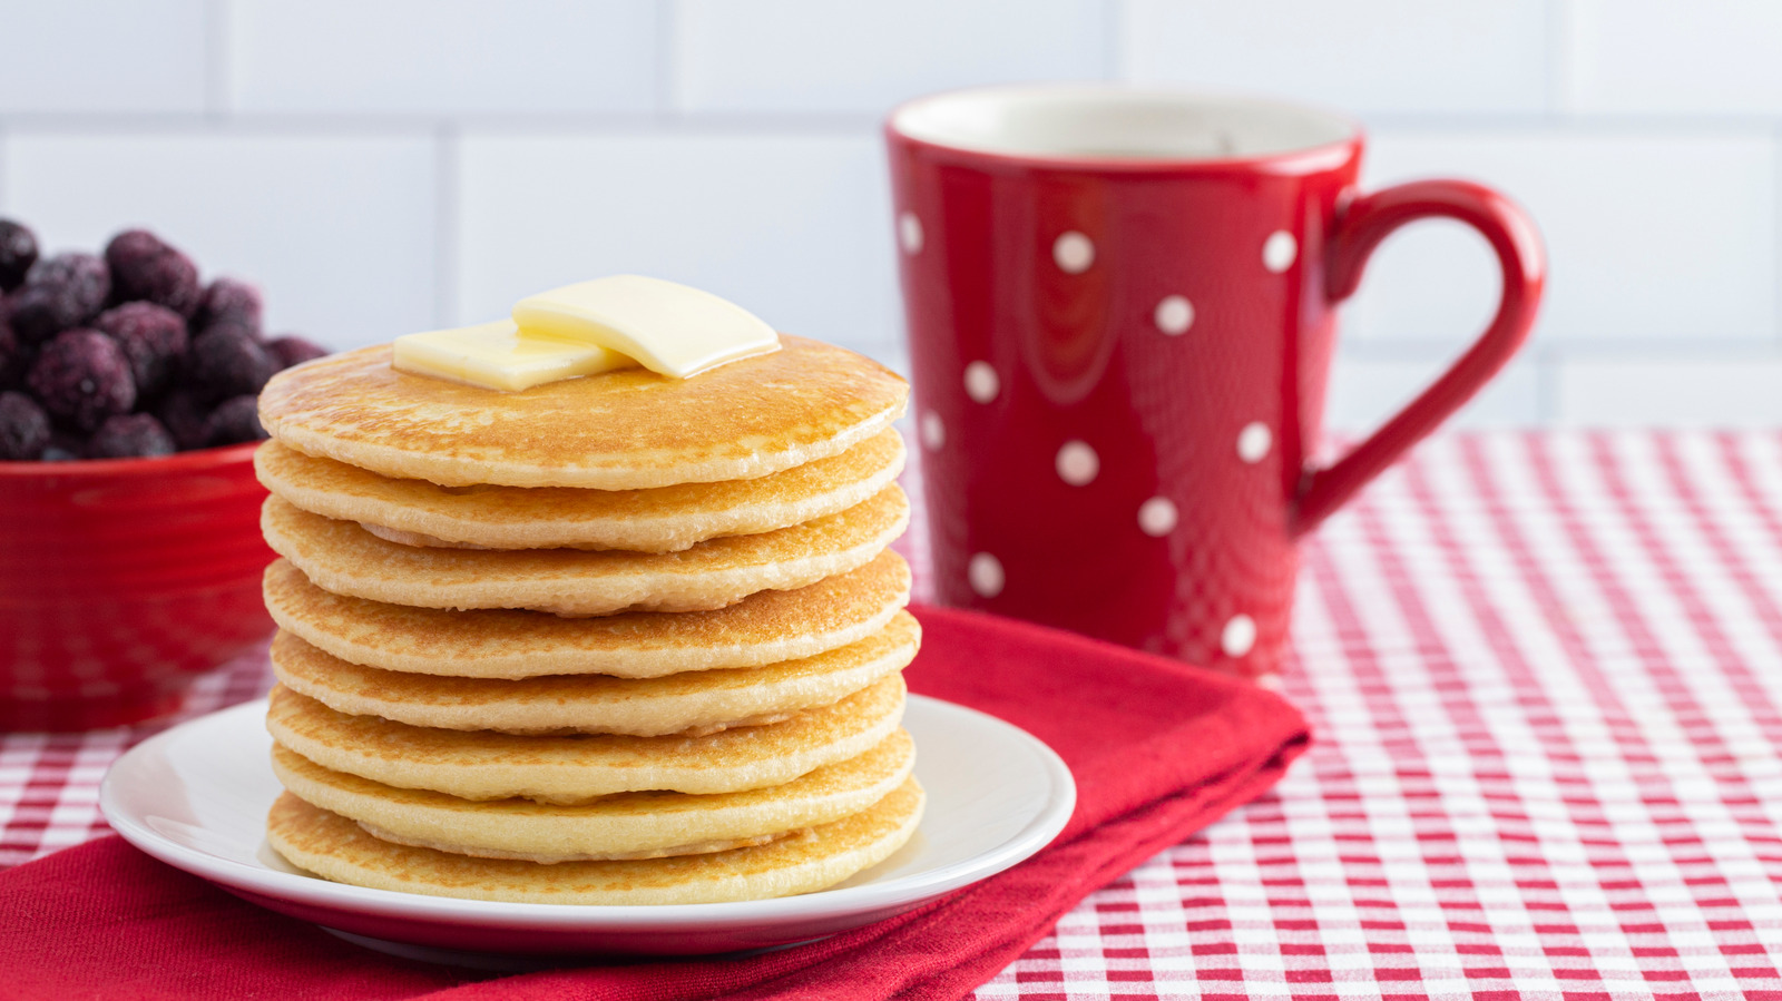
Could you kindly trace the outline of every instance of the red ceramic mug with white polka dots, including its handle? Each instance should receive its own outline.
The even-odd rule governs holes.
[[[916,100],[886,125],[939,597],[1251,677],[1278,668],[1296,540],[1527,338],[1534,224],[1429,180],[1358,192],[1349,119],[1096,85]],[[1336,306],[1399,226],[1502,265],[1479,340],[1333,465]]]

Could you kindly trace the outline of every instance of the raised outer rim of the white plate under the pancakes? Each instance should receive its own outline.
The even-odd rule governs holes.
[[[503,928],[536,930],[581,930],[581,932],[674,932],[683,928],[709,928],[713,924],[750,926],[772,924],[779,921],[798,921],[813,917],[843,917],[850,914],[870,914],[884,908],[896,908],[909,903],[934,899],[941,894],[968,887],[1003,873],[1016,864],[1044,850],[1069,825],[1076,809],[1076,780],[1064,759],[1044,741],[1028,734],[1021,727],[1000,720],[980,709],[959,705],[944,698],[911,693],[912,705],[927,711],[955,712],[971,720],[977,727],[1005,730],[1016,743],[1025,745],[1041,762],[1050,794],[1046,805],[1018,832],[987,851],[962,859],[936,869],[909,873],[895,880],[864,883],[797,894],[786,898],[720,901],[720,903],[670,903],[670,905],[561,905],[561,903],[520,903],[492,901],[470,898],[449,898],[433,894],[412,894],[372,887],[355,887],[335,883],[315,876],[299,876],[251,866],[233,859],[210,855],[198,848],[180,844],[168,835],[137,821],[127,812],[118,791],[118,775],[128,761],[153,753],[159,745],[176,739],[196,725],[216,725],[219,716],[264,714],[266,698],[242,702],[216,712],[207,712],[169,727],[146,741],[135,745],[105,769],[100,780],[100,812],[127,842],[150,857],[173,866],[184,873],[239,889],[262,894],[289,903],[301,903],[323,908],[351,910],[380,917],[401,917],[422,923],[451,924],[492,924]]]

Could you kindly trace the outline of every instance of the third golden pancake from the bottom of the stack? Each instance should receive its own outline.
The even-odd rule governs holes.
[[[584,803],[649,789],[761,789],[846,761],[896,728],[903,718],[903,677],[891,675],[782,723],[704,737],[438,730],[347,716],[283,686],[273,686],[269,700],[266,728],[273,739],[333,771],[463,800],[526,796],[544,803]]]

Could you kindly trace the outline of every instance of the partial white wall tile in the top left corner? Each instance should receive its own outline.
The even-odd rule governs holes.
[[[0,0],[0,114],[205,109],[205,0]]]

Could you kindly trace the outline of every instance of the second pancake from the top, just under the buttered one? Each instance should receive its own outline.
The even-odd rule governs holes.
[[[253,465],[260,483],[292,506],[406,545],[675,552],[845,511],[896,479],[903,440],[887,427],[838,456],[770,476],[652,490],[438,486],[278,442],[262,445]]]

